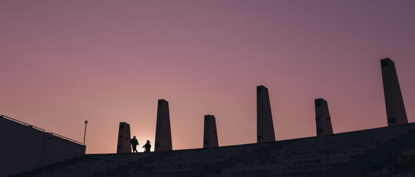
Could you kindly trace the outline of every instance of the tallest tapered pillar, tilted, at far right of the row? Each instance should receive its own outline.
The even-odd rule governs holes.
[[[383,92],[385,94],[387,125],[407,124],[408,118],[400,93],[395,63],[389,58],[380,60],[382,67]]]

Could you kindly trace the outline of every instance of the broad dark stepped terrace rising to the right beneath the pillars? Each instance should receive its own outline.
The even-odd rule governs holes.
[[[415,123],[207,149],[87,154],[19,176],[415,176]]]

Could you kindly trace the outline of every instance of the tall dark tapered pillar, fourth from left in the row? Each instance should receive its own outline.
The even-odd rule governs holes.
[[[257,86],[257,143],[275,141],[273,115],[268,89]]]

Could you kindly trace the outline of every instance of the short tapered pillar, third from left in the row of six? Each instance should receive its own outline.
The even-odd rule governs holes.
[[[213,115],[205,115],[205,131],[203,132],[203,148],[219,147],[216,121]]]

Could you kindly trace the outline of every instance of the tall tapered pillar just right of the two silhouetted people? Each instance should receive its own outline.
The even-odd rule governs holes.
[[[155,152],[172,150],[169,103],[163,99],[158,100],[156,144],[154,144],[154,146]]]

